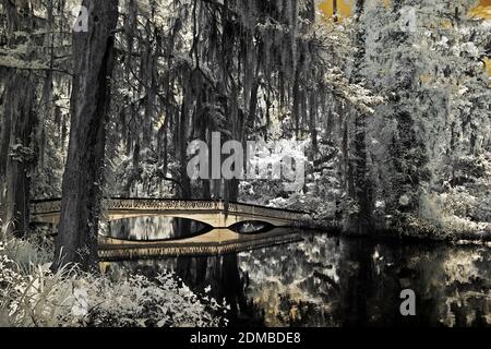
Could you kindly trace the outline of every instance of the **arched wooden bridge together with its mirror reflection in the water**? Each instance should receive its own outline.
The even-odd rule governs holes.
[[[60,200],[32,203],[34,222],[58,224],[60,212]],[[244,221],[291,227],[306,215],[301,212],[241,203],[229,203],[226,209],[223,201],[167,198],[106,198],[103,212],[108,220],[148,216],[176,217],[201,221],[213,229],[192,238],[172,240],[135,241],[100,236],[100,261],[216,255],[300,241],[300,234],[291,229],[275,228],[266,232],[238,233],[229,228]]]

